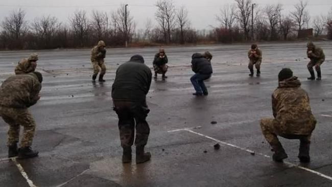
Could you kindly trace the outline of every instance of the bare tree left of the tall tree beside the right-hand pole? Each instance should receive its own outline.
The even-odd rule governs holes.
[[[216,15],[216,19],[220,22],[225,29],[232,31],[233,24],[235,21],[236,6],[235,4],[226,4],[222,9],[220,9],[220,14]]]

